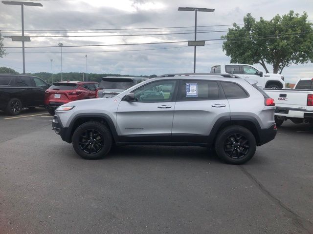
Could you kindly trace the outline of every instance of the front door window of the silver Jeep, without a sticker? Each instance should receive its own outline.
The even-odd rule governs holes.
[[[172,101],[177,85],[176,80],[160,80],[134,90],[136,102]]]

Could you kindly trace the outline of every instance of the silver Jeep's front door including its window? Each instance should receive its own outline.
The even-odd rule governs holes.
[[[135,100],[122,100],[117,109],[117,134],[126,142],[169,142],[177,80],[150,82],[134,91]]]

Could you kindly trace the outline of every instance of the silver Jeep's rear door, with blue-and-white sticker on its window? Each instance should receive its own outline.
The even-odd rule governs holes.
[[[219,81],[181,80],[175,104],[172,142],[207,143],[216,121],[229,119],[229,104]]]

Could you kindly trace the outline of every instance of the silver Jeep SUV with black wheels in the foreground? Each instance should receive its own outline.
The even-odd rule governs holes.
[[[56,109],[54,131],[86,159],[112,145],[214,147],[227,163],[252,158],[276,135],[275,103],[253,81],[229,74],[168,74],[112,98]]]

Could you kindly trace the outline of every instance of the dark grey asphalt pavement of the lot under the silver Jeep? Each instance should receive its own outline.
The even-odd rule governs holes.
[[[0,112],[0,234],[313,233],[313,126],[285,122],[241,166],[206,148],[84,160],[44,109]]]

